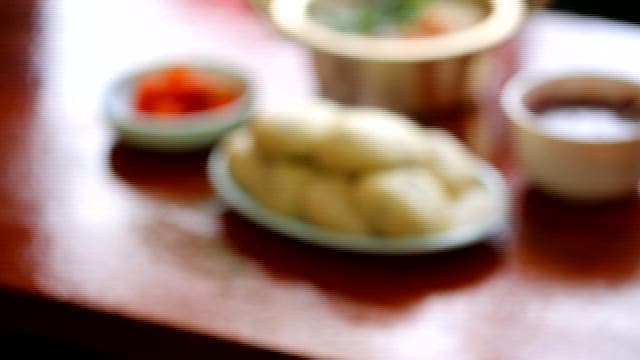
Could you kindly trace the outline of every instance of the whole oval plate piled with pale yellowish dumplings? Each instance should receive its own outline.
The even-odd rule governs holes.
[[[213,150],[217,194],[292,239],[369,254],[440,252],[507,220],[501,174],[454,135],[391,111],[317,101],[264,111]]]

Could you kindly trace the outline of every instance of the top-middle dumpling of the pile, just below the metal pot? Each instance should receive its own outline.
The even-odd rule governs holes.
[[[416,164],[426,151],[410,121],[374,108],[345,111],[316,148],[317,163],[334,172],[362,173]]]

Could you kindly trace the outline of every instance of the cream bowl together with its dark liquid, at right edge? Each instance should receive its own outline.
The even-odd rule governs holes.
[[[541,190],[578,202],[638,191],[639,80],[522,74],[509,81],[501,100],[517,161]]]

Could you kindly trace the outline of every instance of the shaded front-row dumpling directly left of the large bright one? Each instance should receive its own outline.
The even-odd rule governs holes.
[[[342,177],[315,177],[307,188],[303,208],[307,220],[324,228],[353,234],[368,232],[353,203],[351,186]]]

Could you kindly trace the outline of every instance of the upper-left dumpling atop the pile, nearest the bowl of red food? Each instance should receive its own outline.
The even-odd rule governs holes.
[[[305,157],[336,122],[339,108],[328,102],[265,111],[251,121],[256,144],[270,157]]]

